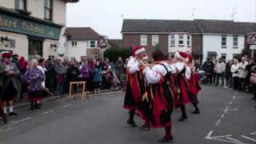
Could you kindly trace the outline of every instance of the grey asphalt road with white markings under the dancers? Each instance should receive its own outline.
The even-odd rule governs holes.
[[[29,106],[17,110],[4,125],[0,120],[0,144],[155,144],[163,129],[141,131],[126,125],[127,110],[122,109],[122,91],[97,94],[89,100],[60,98],[43,103],[41,110]],[[220,86],[202,86],[201,114],[190,114],[178,122],[174,110],[173,143],[177,144],[253,144],[256,143],[256,109],[251,94]],[[142,125],[136,117],[138,125]]]

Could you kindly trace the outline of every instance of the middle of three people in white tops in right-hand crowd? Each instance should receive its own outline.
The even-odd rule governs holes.
[[[233,89],[238,90],[238,81],[239,81],[239,63],[238,59],[234,58],[234,64],[231,66],[231,73],[232,73],[232,79],[233,79]]]

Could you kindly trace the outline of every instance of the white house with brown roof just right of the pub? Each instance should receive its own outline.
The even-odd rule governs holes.
[[[99,58],[100,47],[98,41],[100,34],[90,27],[66,28],[66,56],[81,61],[81,58]]]

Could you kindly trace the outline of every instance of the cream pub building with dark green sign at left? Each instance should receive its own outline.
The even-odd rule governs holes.
[[[67,2],[78,0],[0,0],[0,51],[57,57]]]

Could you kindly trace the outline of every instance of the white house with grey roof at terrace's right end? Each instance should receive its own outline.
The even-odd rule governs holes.
[[[203,62],[212,57],[231,60],[247,48],[247,33],[256,28],[253,22],[195,20],[202,32]]]

